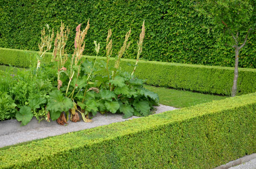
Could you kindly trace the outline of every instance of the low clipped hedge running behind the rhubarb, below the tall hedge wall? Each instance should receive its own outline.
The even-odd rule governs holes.
[[[36,64],[35,51],[0,48],[0,64],[17,67],[28,67]],[[95,56],[84,59],[94,60]],[[98,57],[104,60],[105,57]],[[47,53],[44,62],[51,61],[51,53]],[[110,63],[115,62],[111,58]],[[120,66],[131,72],[135,60],[122,59]],[[233,85],[234,68],[220,66],[202,66],[181,63],[165,63],[156,61],[139,61],[135,75],[145,79],[146,84],[201,93],[214,93],[230,96]],[[238,95],[256,92],[256,69],[239,68]]]

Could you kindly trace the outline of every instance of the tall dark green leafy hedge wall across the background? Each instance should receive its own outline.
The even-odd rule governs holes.
[[[71,28],[67,52],[73,53],[75,28],[85,28],[90,18],[84,54],[95,55],[93,40],[105,55],[107,30],[113,30],[114,54],[132,29],[131,47],[125,58],[136,57],[136,42],[143,20],[146,37],[142,58],[151,61],[234,65],[234,50],[218,42],[218,32],[199,17],[189,0],[0,0],[0,47],[38,50],[40,30],[48,23],[56,31],[63,21]],[[256,15],[253,15],[256,19]],[[240,52],[239,66],[256,68],[256,35]]]

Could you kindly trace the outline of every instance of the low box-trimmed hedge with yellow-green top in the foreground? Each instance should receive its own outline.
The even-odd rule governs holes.
[[[256,152],[255,111],[251,93],[4,147],[0,168],[214,168]]]

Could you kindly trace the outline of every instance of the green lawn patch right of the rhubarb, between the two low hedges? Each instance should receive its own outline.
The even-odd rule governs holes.
[[[144,87],[158,94],[160,104],[177,108],[189,107],[196,104],[227,98],[227,96],[217,96],[211,94],[196,93],[192,91],[180,91],[147,85],[144,85]]]

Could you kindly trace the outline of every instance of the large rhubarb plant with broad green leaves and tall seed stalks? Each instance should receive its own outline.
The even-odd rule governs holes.
[[[82,24],[79,24],[76,28],[73,55],[65,52],[70,30],[61,22],[54,40],[52,62],[41,65],[39,71],[36,70],[36,76],[31,68],[27,78],[30,80],[27,83],[15,81],[13,89],[18,90],[19,86],[22,86],[19,93],[13,92],[23,98],[22,106],[18,104],[19,111],[16,113],[16,118],[22,121],[22,125],[26,125],[33,114],[37,119],[45,118],[49,121],[51,118],[64,125],[69,120],[69,113],[73,122],[80,120],[78,114],[82,115],[83,121],[90,122],[92,120],[89,115],[94,116],[97,112],[120,113],[124,114],[123,118],[148,116],[154,110],[153,106],[159,105],[158,95],[144,88],[143,81],[134,76],[145,37],[144,22],[138,40],[137,61],[131,70],[132,73],[124,72],[120,66],[122,57],[131,44],[131,29],[126,33],[118,53],[113,53],[112,30],[109,29],[105,47],[106,60],[97,60],[100,43],[94,41],[96,58],[94,61],[88,61],[83,58],[83,51],[84,39],[90,28],[89,20],[83,30],[81,27]],[[51,38],[48,37],[49,40]],[[117,56],[114,65],[110,64],[112,55]],[[36,92],[29,94],[28,89]]]

